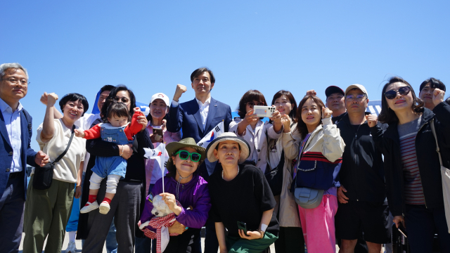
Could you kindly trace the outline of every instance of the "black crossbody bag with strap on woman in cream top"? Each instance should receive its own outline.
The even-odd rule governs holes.
[[[56,158],[53,162],[49,162],[45,164],[44,167],[35,167],[34,168],[34,177],[33,177],[33,188],[37,190],[46,190],[50,188],[51,181],[53,181],[53,169],[55,168],[56,162],[59,162],[61,158],[64,157],[65,153],[68,153],[70,148],[70,143],[72,143],[73,136],[75,134],[75,125],[72,127],[72,135],[70,136],[69,143],[67,148],[65,148],[64,152]]]

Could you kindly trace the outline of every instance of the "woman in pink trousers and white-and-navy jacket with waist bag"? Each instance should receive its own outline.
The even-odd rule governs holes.
[[[295,150],[298,156],[292,187],[318,192],[316,207],[298,206],[304,241],[310,253],[336,251],[336,187],[340,186],[337,177],[345,143],[338,127],[331,121],[332,113],[320,98],[304,96],[297,109],[297,131],[302,136],[302,142],[299,144],[290,135],[283,136],[284,150]]]

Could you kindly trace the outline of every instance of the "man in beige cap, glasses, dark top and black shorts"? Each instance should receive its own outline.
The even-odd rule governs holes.
[[[335,216],[336,237],[342,240],[340,253],[354,252],[361,231],[369,253],[379,253],[381,245],[390,242],[383,158],[366,121],[367,105],[364,86],[352,84],[345,89],[347,115],[337,124],[345,141]],[[383,131],[387,128],[378,124]]]

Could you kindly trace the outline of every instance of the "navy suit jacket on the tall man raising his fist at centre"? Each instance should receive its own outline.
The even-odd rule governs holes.
[[[198,107],[197,100],[194,98],[188,102],[180,103],[177,107],[170,105],[166,126],[167,131],[171,131],[173,133],[176,133],[181,129],[183,132],[183,138],[191,137],[198,143],[222,120],[224,121],[224,132],[227,132],[232,120],[231,108],[229,105],[211,98],[210,110],[206,119],[205,130],[203,130],[200,108]],[[212,171],[210,171],[210,173],[212,173]],[[207,173],[205,162],[203,162],[203,164],[200,165],[200,175],[207,180],[210,173]]]

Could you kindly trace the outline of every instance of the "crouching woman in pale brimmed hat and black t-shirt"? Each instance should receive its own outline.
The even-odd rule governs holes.
[[[208,187],[220,252],[264,251],[278,238],[278,221],[272,216],[274,195],[261,169],[240,164],[250,154],[250,146],[236,134],[224,133],[208,145],[206,153],[210,162],[219,161]]]

